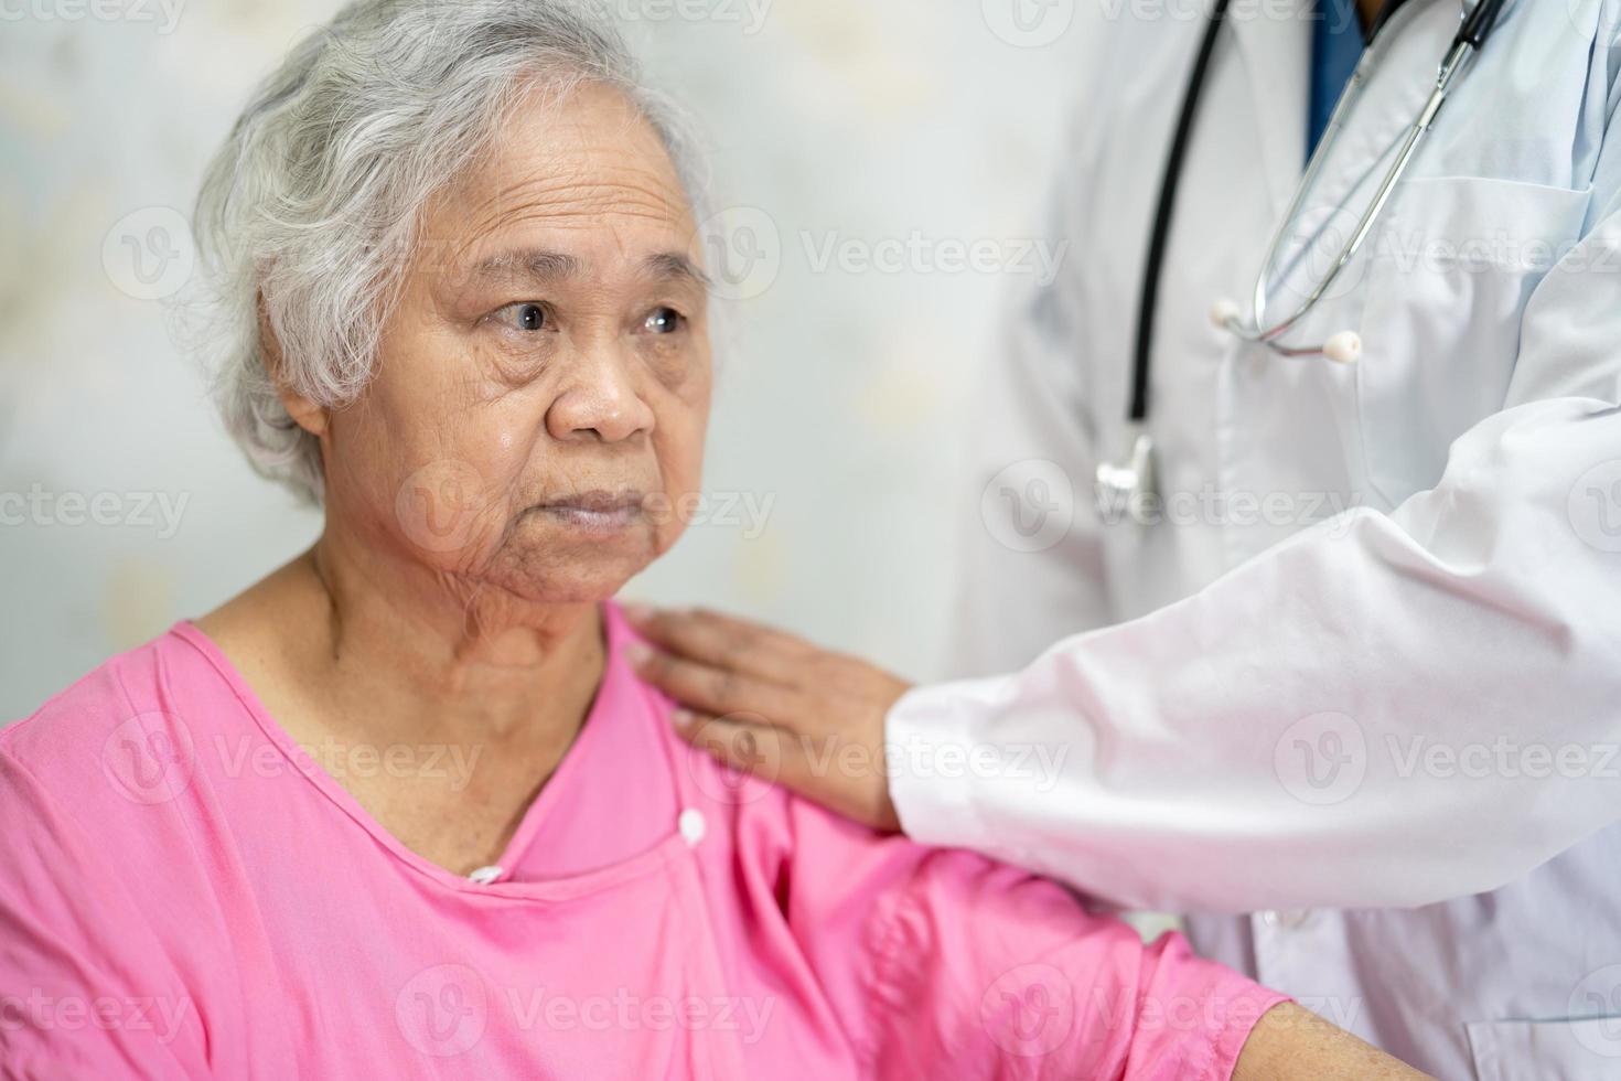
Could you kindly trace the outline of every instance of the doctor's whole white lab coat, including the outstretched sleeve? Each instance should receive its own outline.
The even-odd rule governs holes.
[[[898,703],[901,822],[1125,906],[1256,912],[1190,929],[1441,1078],[1621,1078],[1621,0],[1506,10],[1298,335],[1358,331],[1355,365],[1208,318],[1248,308],[1305,160],[1310,24],[1234,5],[1154,348],[1183,502],[1151,527],[1102,523],[1091,475],[1128,444],[1203,19],[1104,6],[1054,198],[1071,254],[1016,298],[964,486],[963,669],[1020,671]],[[1360,209],[1457,13],[1386,31],[1315,206]]]

